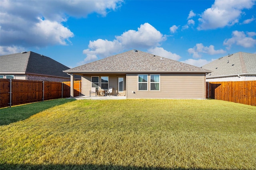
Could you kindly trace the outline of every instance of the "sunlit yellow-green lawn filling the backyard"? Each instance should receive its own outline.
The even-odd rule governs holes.
[[[256,168],[256,107],[220,100],[77,100],[0,131],[0,169]]]

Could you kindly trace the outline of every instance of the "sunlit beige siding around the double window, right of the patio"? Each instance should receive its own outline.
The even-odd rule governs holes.
[[[138,91],[138,74],[126,80],[127,98],[205,98],[205,74],[160,74],[160,91],[150,91],[150,82],[147,91]]]

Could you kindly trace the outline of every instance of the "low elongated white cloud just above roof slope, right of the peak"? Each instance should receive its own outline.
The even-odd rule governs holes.
[[[179,55],[177,55],[175,53],[171,53],[170,51],[166,51],[162,47],[150,48],[150,49],[148,49],[148,53],[162,56],[164,58],[172,59],[172,60],[176,60],[176,61],[181,58]]]

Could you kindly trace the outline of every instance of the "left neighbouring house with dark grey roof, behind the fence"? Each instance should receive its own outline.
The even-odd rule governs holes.
[[[0,78],[65,82],[69,67],[32,51],[0,56]],[[75,76],[75,80],[80,80]]]

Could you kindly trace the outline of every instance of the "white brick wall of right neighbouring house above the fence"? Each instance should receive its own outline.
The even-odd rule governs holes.
[[[254,75],[244,75],[241,77],[232,76],[232,77],[222,77],[222,78],[206,78],[206,82],[238,82],[238,81],[252,81],[256,80]]]

